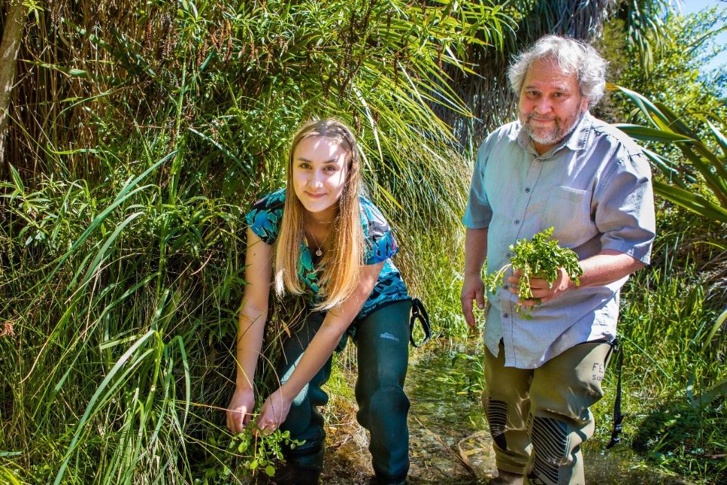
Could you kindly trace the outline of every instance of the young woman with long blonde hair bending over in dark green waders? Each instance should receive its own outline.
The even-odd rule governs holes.
[[[227,422],[238,433],[252,418],[252,378],[270,285],[278,294],[306,298],[310,316],[284,342],[280,388],[268,396],[257,418],[262,433],[281,428],[305,440],[286,451],[289,483],[318,481],[325,433],[316,406],[328,401],[321,385],[346,332],[358,346],[356,417],[371,433],[374,482],[404,483],[409,470],[409,399],[403,382],[411,299],[390,260],[398,251],[396,241],[381,212],[360,195],[360,180],[350,129],[333,119],[313,121],[293,139],[286,188],[257,201],[246,216],[247,285]]]

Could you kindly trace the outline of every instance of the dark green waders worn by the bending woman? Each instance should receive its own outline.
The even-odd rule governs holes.
[[[292,374],[324,318],[325,313],[311,313],[284,342],[283,358],[278,366],[282,382]],[[382,305],[354,321],[350,332],[358,350],[356,418],[371,433],[371,460],[383,483],[401,482],[409,471],[409,428],[406,425],[409,399],[403,384],[409,360],[410,324],[414,326],[416,321],[422,323],[428,336],[428,318],[421,302],[401,300]],[[345,346],[345,338],[342,340],[339,350]],[[320,468],[323,463],[326,433],[323,417],[316,407],[328,402],[321,386],[331,375],[331,364],[332,358],[329,358],[294,398],[288,417],[281,425],[281,430],[290,431],[291,438],[305,440],[304,444],[285,453],[288,460],[300,465]]]

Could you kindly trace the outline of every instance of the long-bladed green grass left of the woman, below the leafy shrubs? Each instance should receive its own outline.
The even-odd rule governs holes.
[[[2,438],[31,481],[182,477],[190,422],[229,387],[240,208],[201,195],[164,204],[145,178],[107,193],[4,185]]]

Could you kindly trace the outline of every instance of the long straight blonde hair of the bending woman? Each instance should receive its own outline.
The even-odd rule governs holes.
[[[300,241],[303,237],[305,207],[293,188],[293,156],[302,140],[321,137],[333,140],[348,152],[345,183],[338,201],[338,215],[326,239],[330,249],[324,253],[318,270],[318,295],[322,301],[315,310],[328,310],[340,305],[356,289],[361,266],[364,265],[364,228],[358,201],[361,184],[360,159],[356,137],[349,127],[337,119],[322,119],[304,124],[293,137],[288,155],[285,207],[280,235],[276,243],[275,288],[278,295],[287,289],[302,294],[305,286],[298,277]]]

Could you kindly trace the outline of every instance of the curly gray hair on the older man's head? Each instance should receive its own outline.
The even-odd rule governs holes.
[[[606,60],[583,41],[563,36],[542,36],[515,58],[507,69],[510,88],[520,95],[528,69],[536,60],[552,59],[563,73],[575,73],[581,94],[595,105],[606,89]]]

